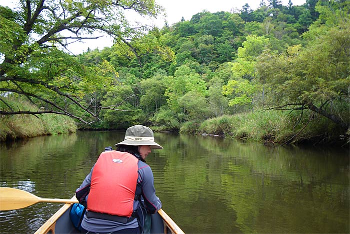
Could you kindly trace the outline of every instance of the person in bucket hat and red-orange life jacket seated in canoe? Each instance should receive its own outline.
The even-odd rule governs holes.
[[[124,140],[114,146],[116,150],[99,155],[75,191],[86,207],[83,232],[141,233],[146,214],[161,208],[152,170],[145,162],[151,149],[162,149],[154,142],[152,130],[142,125],[129,127]]]

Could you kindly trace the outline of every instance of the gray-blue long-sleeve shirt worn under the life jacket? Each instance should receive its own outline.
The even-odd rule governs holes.
[[[136,184],[136,194],[141,194],[144,199],[144,205],[147,209],[148,213],[155,213],[157,210],[161,208],[161,202],[159,198],[155,195],[154,189],[154,179],[151,168],[145,162],[138,160],[138,177]],[[76,189],[75,192],[87,187],[91,183],[91,175],[92,175],[93,167],[90,173],[85,177],[82,184],[79,188]],[[87,196],[85,198],[87,200]],[[133,208],[135,209],[138,206],[138,202],[134,200]],[[111,232],[117,231],[124,228],[136,228],[138,226],[137,220],[133,219],[132,221],[123,224],[115,221],[99,219],[99,218],[88,218],[84,215],[84,218],[81,222],[81,226],[89,231],[94,232]]]

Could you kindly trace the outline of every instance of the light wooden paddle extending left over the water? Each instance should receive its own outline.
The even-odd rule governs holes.
[[[40,198],[29,192],[0,187],[0,210],[20,209],[37,202],[78,203],[76,199]]]

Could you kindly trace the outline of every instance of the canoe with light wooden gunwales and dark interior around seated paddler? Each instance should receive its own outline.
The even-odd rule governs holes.
[[[73,197],[72,200],[76,200],[76,198]],[[70,221],[71,205],[71,203],[66,203],[60,207],[34,234],[80,233]],[[184,234],[181,228],[162,209],[151,215],[150,233]]]

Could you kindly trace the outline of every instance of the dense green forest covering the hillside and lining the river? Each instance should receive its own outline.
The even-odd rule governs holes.
[[[143,124],[272,144],[349,143],[348,0],[261,0],[256,10],[202,11],[162,28],[125,17],[160,15],[152,0],[16,4],[0,6],[2,139],[18,116],[59,115],[79,129]],[[113,46],[67,50],[96,31]]]

